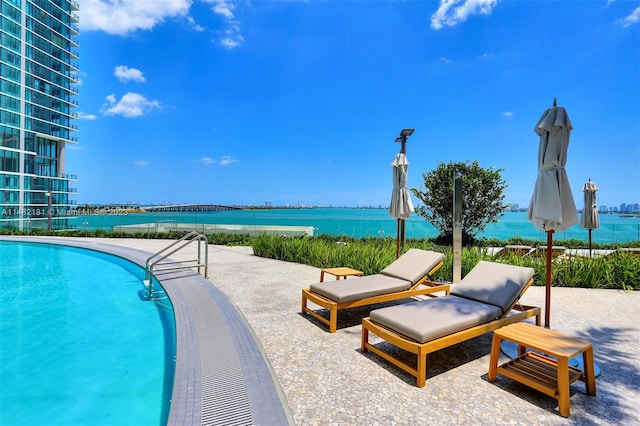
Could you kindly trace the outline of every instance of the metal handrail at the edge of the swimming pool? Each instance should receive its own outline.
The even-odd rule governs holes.
[[[182,250],[191,243],[198,243],[197,259],[181,260],[179,262],[168,260],[169,256]],[[203,244],[204,243],[204,244]],[[201,246],[204,245],[204,250]],[[204,252],[204,259],[203,259]],[[145,265],[144,286],[147,289],[148,300],[153,300],[153,277],[156,272],[175,271],[179,269],[198,268],[198,274],[209,277],[209,240],[205,234],[192,231],[179,240],[169,244],[157,253],[149,256]],[[202,269],[204,268],[204,274]]]

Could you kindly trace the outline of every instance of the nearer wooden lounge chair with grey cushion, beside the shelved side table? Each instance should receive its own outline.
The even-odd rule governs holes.
[[[533,275],[532,268],[481,261],[448,296],[371,311],[362,320],[362,352],[371,350],[423,387],[429,353],[533,316],[540,325],[540,308],[518,304]],[[417,366],[370,343],[369,333],[416,354]]]

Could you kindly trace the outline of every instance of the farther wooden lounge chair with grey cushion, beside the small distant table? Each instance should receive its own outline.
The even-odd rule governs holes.
[[[335,333],[338,311],[436,292],[449,294],[449,285],[432,282],[430,276],[443,265],[444,255],[409,249],[379,274],[312,284],[302,290],[302,314],[310,314]],[[329,318],[307,306],[311,301],[329,310]]]

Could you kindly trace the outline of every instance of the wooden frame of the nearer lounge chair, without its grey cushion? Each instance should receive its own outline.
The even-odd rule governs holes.
[[[393,365],[406,371],[416,378],[416,384],[418,387],[424,387],[427,380],[427,355],[440,349],[444,349],[449,346],[453,346],[456,343],[464,342],[474,337],[481,336],[485,333],[489,333],[493,330],[497,330],[505,325],[513,324],[525,320],[527,318],[536,317],[536,325],[540,325],[540,312],[541,309],[533,306],[522,306],[518,303],[520,297],[533,283],[533,278],[524,286],[516,300],[509,307],[509,309],[502,315],[502,317],[489,321],[486,323],[478,324],[476,326],[466,328],[464,330],[456,331],[443,337],[431,340],[426,343],[417,342],[407,336],[404,336],[390,328],[373,323],[369,317],[362,320],[362,353],[370,350],[371,352],[386,359]],[[519,311],[516,314],[511,314],[511,311]],[[511,314],[511,315],[510,315]],[[407,352],[411,352],[417,355],[416,367],[413,367],[399,358],[394,357],[389,352],[385,352],[379,347],[369,343],[369,333],[373,333],[393,346],[404,349]]]

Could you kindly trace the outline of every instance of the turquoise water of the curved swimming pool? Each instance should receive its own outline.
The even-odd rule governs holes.
[[[116,256],[0,241],[0,424],[166,423],[174,318],[143,278]]]

